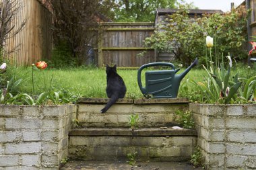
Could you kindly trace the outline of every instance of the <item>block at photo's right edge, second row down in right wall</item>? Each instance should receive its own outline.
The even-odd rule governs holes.
[[[226,118],[226,127],[235,129],[256,129],[256,118]]]

